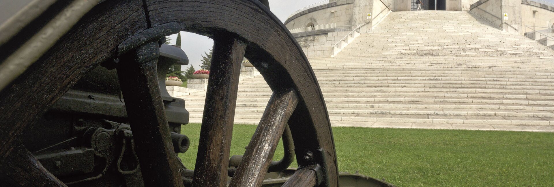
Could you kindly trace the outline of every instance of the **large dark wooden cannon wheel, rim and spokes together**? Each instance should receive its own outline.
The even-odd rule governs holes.
[[[86,72],[106,61],[119,61],[120,81],[129,83],[122,87],[125,101],[143,101],[126,104],[130,119],[135,119],[130,123],[137,147],[152,148],[136,150],[145,186],[182,186],[173,164],[176,159],[170,157],[167,127],[162,125],[167,121],[160,109],[157,82],[151,81],[154,72],[148,69],[155,66],[158,55],[149,53],[155,44],[148,37],[179,30],[214,40],[193,186],[227,185],[243,56],[260,71],[273,95],[230,186],[261,185],[287,123],[299,169],[284,186],[337,186],[331,125],[315,74],[284,25],[255,0],[114,0],[98,4],[0,92],[0,173],[10,175],[12,183],[19,186],[65,186],[42,168],[18,139],[24,128],[32,126]],[[148,59],[152,56],[156,58]]]

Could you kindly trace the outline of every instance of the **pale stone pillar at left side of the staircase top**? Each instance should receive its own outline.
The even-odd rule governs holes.
[[[367,14],[373,9],[373,0],[354,0],[354,9],[352,13],[352,24],[366,24],[371,22],[371,18],[367,19]],[[356,26],[353,26],[354,28]],[[352,28],[353,29],[353,28]],[[360,33],[367,33],[371,29],[371,23],[360,28]]]

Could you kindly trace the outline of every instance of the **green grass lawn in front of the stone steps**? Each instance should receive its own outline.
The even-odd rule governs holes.
[[[256,126],[237,124],[231,155],[244,153]],[[194,168],[199,124],[183,163]],[[554,133],[334,127],[338,170],[397,186],[554,186]],[[274,160],[283,155],[281,144]]]

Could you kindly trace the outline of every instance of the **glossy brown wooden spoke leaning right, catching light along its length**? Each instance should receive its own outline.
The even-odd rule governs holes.
[[[261,186],[279,138],[297,103],[296,92],[292,90],[273,93],[230,186]]]

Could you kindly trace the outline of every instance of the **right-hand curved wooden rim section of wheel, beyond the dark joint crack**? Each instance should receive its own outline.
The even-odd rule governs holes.
[[[145,0],[152,25],[177,22],[188,32],[237,35],[247,43],[245,56],[273,90],[292,87],[299,104],[290,117],[297,158],[321,152],[322,186],[337,186],[332,131],[317,79],[295,39],[275,15],[255,0]],[[299,164],[309,165],[299,159]]]

